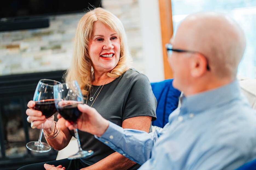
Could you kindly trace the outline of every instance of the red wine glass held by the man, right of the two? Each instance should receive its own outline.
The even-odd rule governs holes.
[[[84,104],[83,95],[77,81],[70,81],[62,84],[57,84],[53,87],[55,106],[59,114],[70,122],[74,127],[74,135],[78,143],[78,152],[68,157],[68,159],[78,159],[88,157],[93,154],[92,150],[84,151],[81,148],[80,139],[77,131],[77,119],[81,116],[78,110],[78,104]]]

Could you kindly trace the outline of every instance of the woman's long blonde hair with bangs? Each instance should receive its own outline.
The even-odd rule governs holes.
[[[129,62],[131,61],[122,22],[103,8],[95,8],[94,10],[88,11],[77,25],[73,59],[70,68],[64,75],[66,81],[77,80],[84,96],[88,95],[93,77],[88,45],[93,36],[93,25],[96,21],[105,24],[120,37],[120,59],[116,67],[110,73],[107,73],[107,76],[111,78],[119,77],[129,68]]]

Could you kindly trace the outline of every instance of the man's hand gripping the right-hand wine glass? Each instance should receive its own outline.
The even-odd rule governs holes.
[[[109,122],[104,119],[94,108],[86,104],[77,105],[82,115],[77,120],[77,129],[93,135],[101,136],[108,128]],[[66,121],[68,129],[73,130],[74,126]]]

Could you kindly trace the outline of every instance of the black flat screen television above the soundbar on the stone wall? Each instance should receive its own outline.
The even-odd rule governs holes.
[[[101,0],[5,0],[0,5],[0,19],[77,13],[93,7],[102,7]]]

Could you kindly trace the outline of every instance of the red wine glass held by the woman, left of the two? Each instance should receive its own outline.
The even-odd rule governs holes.
[[[53,86],[56,84],[61,84],[59,81],[42,79],[39,80],[36,90],[34,93],[33,101],[35,101],[34,110],[39,110],[45,115],[46,118],[51,117],[56,113],[56,107],[53,97]],[[42,125],[41,125],[42,126]],[[42,142],[43,129],[40,130],[40,135],[38,141],[28,142],[26,147],[35,152],[43,153],[51,150],[50,145]]]

